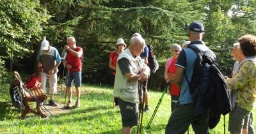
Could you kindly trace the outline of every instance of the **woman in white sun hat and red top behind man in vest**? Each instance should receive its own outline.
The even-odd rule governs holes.
[[[112,71],[112,82],[113,83],[115,81],[117,58],[118,58],[119,54],[121,54],[124,51],[124,49],[126,47],[124,39],[118,38],[118,40],[116,41],[115,47],[116,47],[116,50],[112,51],[110,53],[110,55],[109,55],[109,62],[108,62],[109,68],[111,68],[111,70],[113,70]],[[117,98],[114,98],[114,100],[115,100],[115,105],[117,106],[118,105]]]

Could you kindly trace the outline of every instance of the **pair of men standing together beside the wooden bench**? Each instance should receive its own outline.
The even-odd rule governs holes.
[[[44,40],[41,43],[40,50],[37,55],[37,66],[40,68],[41,88],[46,92],[46,81],[49,78],[49,105],[56,107],[53,101],[54,94],[57,93],[57,72],[58,66],[61,64],[63,58],[63,66],[67,68],[66,74],[66,87],[68,94],[67,108],[73,106],[72,103],[72,83],[74,81],[76,87],[76,108],[80,107],[80,89],[82,81],[82,62],[83,62],[83,49],[76,46],[76,39],[74,37],[67,38],[67,45],[64,46],[65,56],[61,57],[58,50],[49,45],[49,41]],[[64,71],[64,70],[63,70]]]

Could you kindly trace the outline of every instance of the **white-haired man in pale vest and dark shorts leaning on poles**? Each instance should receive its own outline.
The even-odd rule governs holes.
[[[132,126],[138,125],[138,81],[147,80],[150,74],[150,69],[140,57],[144,47],[145,40],[134,36],[117,60],[113,96],[118,98],[120,105],[122,133],[131,133]]]

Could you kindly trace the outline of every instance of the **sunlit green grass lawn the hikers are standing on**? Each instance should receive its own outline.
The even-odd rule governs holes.
[[[40,119],[39,116],[29,114],[25,120],[19,119],[21,111],[10,102],[9,87],[0,88],[0,133],[120,133],[122,121],[120,110],[113,107],[111,87],[83,85],[81,94],[81,108],[70,110],[65,114],[56,115],[56,119]],[[143,114],[143,133],[164,133],[165,126],[171,114],[170,96],[164,95],[163,101],[147,130],[148,121],[162,93],[149,91],[150,112]],[[55,96],[56,102],[63,105],[65,93]],[[75,100],[75,96],[73,96]],[[253,111],[254,119],[256,112]],[[226,133],[228,133],[228,115],[226,115]],[[254,124],[256,124],[254,120]],[[223,117],[216,128],[210,133],[223,133]],[[134,127],[132,133],[136,133]],[[194,133],[191,126],[189,133]]]

